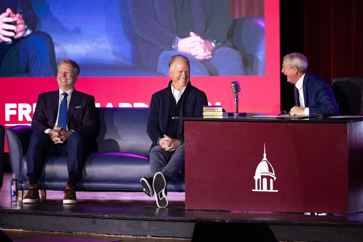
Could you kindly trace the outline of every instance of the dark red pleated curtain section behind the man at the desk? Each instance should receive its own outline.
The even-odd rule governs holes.
[[[333,77],[363,77],[363,1],[304,0],[303,50],[308,70]]]

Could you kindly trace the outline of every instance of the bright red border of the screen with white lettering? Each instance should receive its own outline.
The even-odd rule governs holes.
[[[261,0],[259,0],[261,2]],[[207,94],[208,102],[227,112],[236,110],[233,81],[239,81],[239,111],[280,112],[279,3],[265,0],[266,74],[264,76],[191,77],[191,83]],[[79,77],[78,91],[94,95],[97,106],[148,106],[153,93],[167,86],[170,77]],[[0,78],[0,124],[6,128],[30,124],[39,93],[58,88],[56,78]],[[121,103],[121,104],[120,104]],[[5,145],[5,152],[8,152]]]

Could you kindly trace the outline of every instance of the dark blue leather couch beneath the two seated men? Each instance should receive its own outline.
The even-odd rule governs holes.
[[[148,108],[98,108],[97,152],[86,156],[77,190],[142,191],[141,177],[150,175],[151,140],[146,133]],[[30,126],[7,128],[9,155],[19,190],[28,190],[26,153]],[[64,190],[68,181],[67,157],[46,157],[40,190]],[[184,174],[168,182],[168,191],[184,192]],[[22,196],[22,194],[21,194]]]

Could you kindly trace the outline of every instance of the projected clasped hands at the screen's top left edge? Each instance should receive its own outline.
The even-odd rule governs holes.
[[[11,24],[15,22],[14,24]],[[10,30],[10,31],[9,31]],[[14,31],[14,32],[12,32]],[[26,31],[26,24],[23,16],[20,13],[13,13],[13,11],[8,8],[6,12],[0,15],[0,40],[4,42],[11,42],[11,38],[20,38],[24,35]]]

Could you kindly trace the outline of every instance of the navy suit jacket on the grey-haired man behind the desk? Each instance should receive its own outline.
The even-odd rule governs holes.
[[[302,87],[305,107],[309,107],[310,116],[313,116],[314,113],[323,114],[329,112],[333,115],[339,115],[339,106],[335,101],[333,89],[323,78],[306,71]]]

